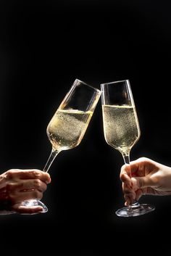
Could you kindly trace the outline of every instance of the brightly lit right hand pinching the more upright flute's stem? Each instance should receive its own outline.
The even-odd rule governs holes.
[[[125,205],[145,194],[171,195],[171,168],[146,157],[130,162],[130,167],[122,165],[120,179]]]

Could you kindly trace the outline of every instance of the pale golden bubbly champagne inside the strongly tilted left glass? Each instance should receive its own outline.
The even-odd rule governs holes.
[[[47,127],[53,149],[61,151],[78,146],[92,115],[91,111],[57,110]]]

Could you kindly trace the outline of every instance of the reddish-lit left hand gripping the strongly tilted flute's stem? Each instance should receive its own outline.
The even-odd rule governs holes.
[[[41,199],[47,184],[51,182],[49,173],[41,170],[12,169],[0,175],[0,207],[22,214],[35,214],[43,209],[40,206],[25,207],[22,202]]]

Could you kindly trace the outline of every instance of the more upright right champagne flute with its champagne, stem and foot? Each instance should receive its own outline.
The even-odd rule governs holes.
[[[105,140],[109,146],[122,154],[125,165],[130,166],[130,149],[141,135],[130,82],[129,80],[119,80],[103,83],[101,91]],[[131,170],[129,176],[131,178]],[[132,205],[122,207],[115,213],[120,217],[133,217],[154,209],[153,205],[133,202]]]

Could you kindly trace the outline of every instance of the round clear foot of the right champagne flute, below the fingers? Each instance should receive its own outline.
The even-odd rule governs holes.
[[[135,204],[127,207],[122,207],[117,210],[115,213],[119,217],[135,217],[139,215],[143,215],[155,210],[154,205],[149,204],[139,204],[136,202]]]

